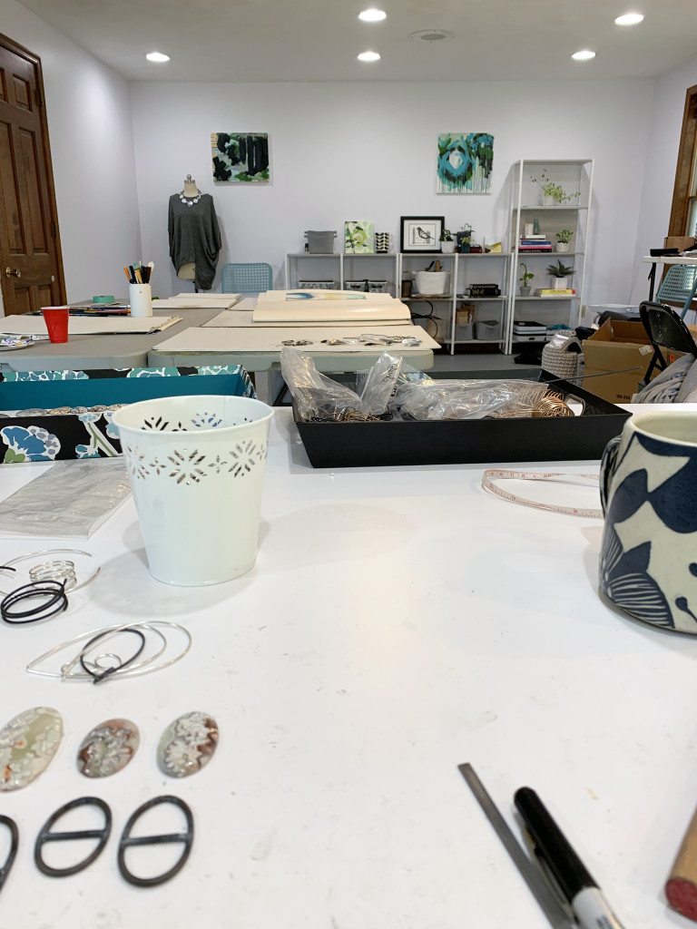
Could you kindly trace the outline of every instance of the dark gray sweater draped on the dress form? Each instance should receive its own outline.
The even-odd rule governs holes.
[[[178,193],[169,198],[169,255],[177,270],[193,262],[199,290],[210,290],[220,254],[220,230],[213,197],[203,193],[198,203],[182,203]]]

